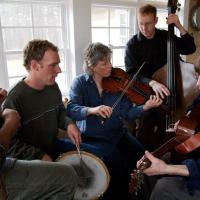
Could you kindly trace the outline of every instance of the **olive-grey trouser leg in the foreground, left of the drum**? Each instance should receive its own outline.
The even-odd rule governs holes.
[[[17,160],[2,174],[8,200],[72,200],[78,177],[61,163]]]

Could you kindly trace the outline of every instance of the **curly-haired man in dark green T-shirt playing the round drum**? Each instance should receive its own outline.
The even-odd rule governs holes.
[[[24,49],[28,75],[8,93],[3,108],[18,111],[21,127],[12,139],[8,155],[23,160],[55,160],[60,154],[76,150],[101,157],[96,147],[81,143],[75,123],[66,116],[60,89],[55,81],[61,72],[58,48],[47,40],[32,40]],[[58,138],[62,129],[69,139]]]

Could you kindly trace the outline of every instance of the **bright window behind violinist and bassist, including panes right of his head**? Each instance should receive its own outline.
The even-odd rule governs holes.
[[[109,45],[113,50],[113,66],[124,68],[124,53],[127,41],[137,32],[136,8],[146,3],[157,7],[158,23],[157,28],[166,29],[166,17],[168,16],[167,0],[129,0],[132,5],[125,6],[128,0],[121,0],[120,6],[102,4],[96,1],[91,8],[92,42],[102,42]],[[181,10],[179,18],[183,19],[184,0],[179,0]],[[112,4],[112,6],[111,6]],[[175,29],[175,31],[177,31]],[[176,33],[176,32],[175,32]],[[179,32],[177,32],[179,34]]]

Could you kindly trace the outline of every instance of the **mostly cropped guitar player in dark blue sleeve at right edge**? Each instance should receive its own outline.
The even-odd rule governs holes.
[[[198,73],[197,87],[200,89],[200,56],[195,68]],[[200,96],[195,99],[191,109],[200,103]],[[177,127],[177,125],[176,125]],[[176,129],[175,127],[175,129]],[[151,161],[151,166],[143,172],[148,176],[168,175],[159,179],[151,193],[150,200],[199,200],[200,199],[200,150],[189,155],[180,165],[167,164],[148,151],[145,157]],[[141,160],[138,161],[139,166]],[[143,200],[143,199],[142,199]]]

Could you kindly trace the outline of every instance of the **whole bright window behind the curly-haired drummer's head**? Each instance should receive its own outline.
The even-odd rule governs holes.
[[[23,48],[32,39],[47,39],[60,50],[62,73],[57,77],[61,91],[66,91],[68,73],[66,72],[67,30],[63,24],[66,16],[66,5],[59,2],[3,2],[0,3],[1,33],[3,41],[3,58],[5,59],[5,77],[8,87],[26,75],[23,66]],[[65,33],[65,34],[64,34]],[[65,41],[65,42],[63,42]],[[61,84],[62,83],[62,84]],[[65,84],[63,84],[65,83]]]

